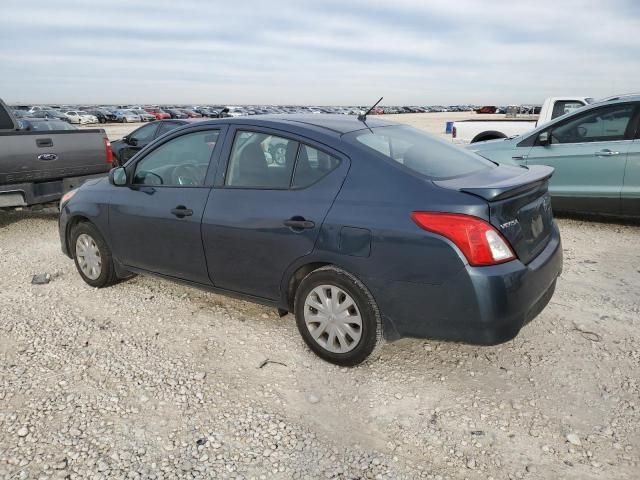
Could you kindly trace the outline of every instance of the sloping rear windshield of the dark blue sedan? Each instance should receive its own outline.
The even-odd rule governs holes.
[[[495,164],[408,126],[377,127],[354,133],[367,149],[434,180],[468,175]]]

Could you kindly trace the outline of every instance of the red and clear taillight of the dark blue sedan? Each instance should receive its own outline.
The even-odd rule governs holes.
[[[516,258],[500,232],[481,218],[440,212],[413,212],[411,218],[420,228],[451,240],[475,267]]]

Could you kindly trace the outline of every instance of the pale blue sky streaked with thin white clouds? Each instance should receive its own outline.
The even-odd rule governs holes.
[[[640,0],[0,0],[0,97],[541,103],[640,90]]]

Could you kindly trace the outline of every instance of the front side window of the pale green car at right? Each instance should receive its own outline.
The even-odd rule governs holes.
[[[551,142],[611,142],[625,139],[634,106],[614,105],[589,110],[551,129]]]

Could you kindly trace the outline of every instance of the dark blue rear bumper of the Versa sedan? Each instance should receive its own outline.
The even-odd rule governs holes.
[[[562,244],[551,240],[528,265],[518,260],[467,266],[441,285],[392,282],[373,292],[390,340],[433,338],[496,345],[514,338],[549,303],[562,272]]]

